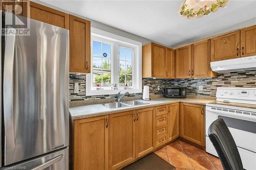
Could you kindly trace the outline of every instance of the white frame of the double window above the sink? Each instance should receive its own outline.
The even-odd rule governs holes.
[[[112,45],[111,49],[111,83],[117,84],[118,89],[114,90],[111,87],[102,87],[97,90],[97,87],[92,86],[93,72],[86,75],[86,95],[104,95],[121,93],[141,93],[142,92],[142,43],[125,38],[116,34],[105,32],[99,29],[91,28],[91,61],[93,61],[93,41],[99,41]],[[132,69],[133,69],[133,87],[124,89],[124,86],[119,87],[119,46],[133,49]],[[93,64],[91,64],[93,71]]]

